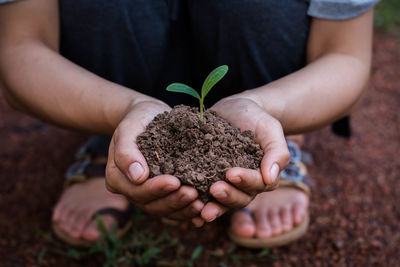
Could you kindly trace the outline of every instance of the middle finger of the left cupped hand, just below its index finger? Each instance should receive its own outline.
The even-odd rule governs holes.
[[[197,196],[198,193],[193,187],[181,186],[178,191],[147,203],[143,206],[143,209],[148,213],[164,216],[185,208],[193,202]]]

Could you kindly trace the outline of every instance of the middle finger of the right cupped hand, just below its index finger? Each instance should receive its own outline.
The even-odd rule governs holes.
[[[219,181],[210,188],[211,195],[228,208],[243,208],[253,199],[250,196],[226,182]]]

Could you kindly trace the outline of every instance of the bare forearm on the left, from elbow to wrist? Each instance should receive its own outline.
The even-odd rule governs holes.
[[[13,106],[54,124],[112,133],[146,96],[106,81],[36,40],[2,48],[0,79]]]

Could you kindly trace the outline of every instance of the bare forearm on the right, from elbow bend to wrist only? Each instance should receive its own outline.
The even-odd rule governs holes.
[[[347,114],[363,92],[369,68],[369,60],[327,53],[303,69],[246,94],[277,118],[286,134],[301,133]]]

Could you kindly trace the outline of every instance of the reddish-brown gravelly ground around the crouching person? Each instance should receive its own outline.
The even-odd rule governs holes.
[[[400,44],[375,36],[369,90],[352,116],[350,141],[328,128],[307,137],[314,155],[311,225],[307,235],[274,249],[260,266],[400,266]],[[11,110],[0,96],[0,266],[36,266],[50,231],[63,172],[85,136]],[[165,227],[160,223],[149,227]],[[211,252],[229,245],[218,222],[180,231],[182,242],[205,248],[196,266],[216,266]],[[191,228],[190,228],[191,229]],[[208,257],[210,256],[210,257]],[[99,266],[102,257],[74,261],[46,254],[47,266]]]

